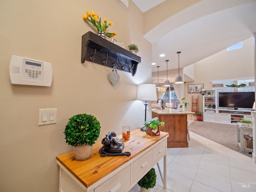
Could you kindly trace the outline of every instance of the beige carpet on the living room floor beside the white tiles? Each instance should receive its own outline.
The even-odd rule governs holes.
[[[200,136],[203,136],[232,150],[240,152],[240,148],[237,144],[236,125],[210,123],[196,120],[189,124],[188,128],[190,131]],[[252,157],[251,153],[242,154]]]

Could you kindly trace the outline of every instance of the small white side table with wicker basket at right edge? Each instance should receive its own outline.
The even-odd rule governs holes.
[[[237,144],[242,153],[252,153],[253,149],[244,146],[244,131],[252,132],[252,127],[242,126],[241,122],[237,122]]]

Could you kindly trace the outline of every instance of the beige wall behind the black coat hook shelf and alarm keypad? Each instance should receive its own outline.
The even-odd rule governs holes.
[[[116,32],[118,42],[138,44],[136,76],[118,71],[120,82],[112,86],[111,68],[81,64],[81,37],[96,33],[82,19],[86,10],[113,21],[108,32]],[[98,141],[109,131],[121,134],[123,124],[142,126],[144,102],[135,100],[137,84],[151,82],[151,44],[143,38],[142,18],[132,1],[128,9],[116,0],[0,1],[0,191],[58,191],[56,156],[72,150],[63,132],[75,114],[96,116]],[[52,85],[11,84],[12,55],[50,62]],[[38,126],[39,109],[44,108],[57,108],[56,124]]]

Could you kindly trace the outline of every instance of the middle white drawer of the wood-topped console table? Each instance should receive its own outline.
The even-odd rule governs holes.
[[[144,154],[141,158],[133,162],[133,182],[138,179],[140,176],[146,174],[146,170],[152,167],[152,150]]]

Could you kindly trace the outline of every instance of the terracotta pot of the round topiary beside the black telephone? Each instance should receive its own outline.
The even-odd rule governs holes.
[[[77,161],[84,161],[91,157],[92,146],[90,145],[78,145],[73,146],[73,152]]]

